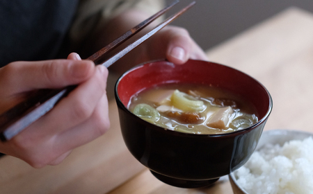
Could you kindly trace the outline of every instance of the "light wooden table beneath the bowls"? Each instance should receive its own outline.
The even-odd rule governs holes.
[[[207,54],[211,61],[246,72],[268,89],[273,112],[264,130],[313,132],[312,13],[290,8]],[[34,169],[14,157],[2,157],[0,193],[232,193],[226,176],[201,189],[176,188],[154,178],[122,141],[112,97],[115,78],[109,79],[111,130],[75,149],[58,166]]]

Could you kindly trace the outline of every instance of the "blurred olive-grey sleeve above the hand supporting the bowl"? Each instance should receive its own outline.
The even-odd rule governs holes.
[[[71,42],[81,42],[107,21],[129,8],[152,15],[164,5],[163,0],[81,0],[70,28]]]

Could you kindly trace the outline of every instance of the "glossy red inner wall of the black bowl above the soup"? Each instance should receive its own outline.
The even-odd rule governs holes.
[[[246,73],[213,62],[188,60],[183,65],[166,61],[149,62],[127,71],[117,83],[118,99],[127,107],[131,96],[164,83],[193,83],[221,87],[249,100],[259,120],[271,112],[271,96]]]

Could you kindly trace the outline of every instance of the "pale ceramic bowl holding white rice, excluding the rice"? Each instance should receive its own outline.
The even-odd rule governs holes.
[[[284,145],[285,142],[291,140],[303,140],[309,136],[313,136],[313,133],[302,132],[297,130],[269,130],[262,133],[256,150],[262,148],[266,143]],[[245,191],[237,182],[234,177],[234,173],[230,173],[230,184],[232,185],[232,191],[234,194],[249,194]]]

